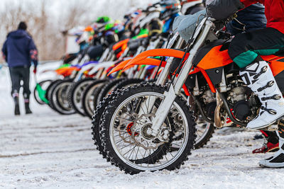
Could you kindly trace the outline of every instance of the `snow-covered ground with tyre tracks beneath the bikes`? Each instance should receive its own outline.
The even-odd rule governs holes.
[[[256,132],[217,131],[179,170],[130,176],[94,150],[88,118],[58,115],[35,101],[33,115],[14,117],[9,93],[2,69],[0,188],[283,188],[284,168],[258,167],[271,154],[251,154],[262,144],[253,140]]]

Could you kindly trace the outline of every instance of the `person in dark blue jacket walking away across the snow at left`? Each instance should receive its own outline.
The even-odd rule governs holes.
[[[20,108],[18,103],[18,96],[21,88],[21,81],[23,81],[23,98],[25,101],[26,114],[30,114],[30,68],[33,62],[33,72],[36,73],[38,66],[38,50],[33,42],[33,38],[28,34],[27,25],[21,22],[18,25],[18,30],[15,30],[7,35],[4,42],[2,53],[3,57],[8,63],[12,90],[11,95],[15,103],[15,115],[20,115]]]

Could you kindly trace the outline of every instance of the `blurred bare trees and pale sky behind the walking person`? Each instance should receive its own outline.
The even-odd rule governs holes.
[[[131,6],[155,0],[15,0],[3,2],[0,11],[0,45],[16,30],[20,21],[28,24],[40,60],[60,59],[65,52],[62,32],[78,25],[89,25],[98,16],[121,19]]]

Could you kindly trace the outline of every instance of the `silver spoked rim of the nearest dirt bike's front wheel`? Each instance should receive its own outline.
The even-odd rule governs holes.
[[[152,127],[153,115],[160,103],[163,102],[163,93],[156,93],[151,89],[147,93],[134,93],[132,96],[126,95],[126,97],[117,98],[119,99],[117,101],[121,101],[121,103],[117,103],[118,105],[111,115],[111,144],[116,145],[113,148],[114,151],[119,154],[119,158],[124,163],[138,170],[155,171],[167,167],[173,159],[183,153],[183,151],[175,151],[175,149],[181,149],[185,145],[185,139],[190,133],[187,130],[188,118],[184,113],[185,109],[174,102],[160,128],[161,131],[171,132],[169,144],[147,134],[148,128]],[[150,99],[155,99],[153,108]],[[132,123],[130,124],[130,122]]]

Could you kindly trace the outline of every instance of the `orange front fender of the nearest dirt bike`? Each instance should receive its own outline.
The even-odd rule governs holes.
[[[176,57],[176,58],[181,59],[184,55],[185,55],[185,52],[183,52],[182,50],[173,50],[173,49],[147,50],[147,51],[141,52],[141,54],[134,57],[128,64],[126,64],[124,68],[133,64],[133,62],[136,62],[134,64],[137,64],[137,62],[140,62],[141,60],[146,59],[147,57]]]

